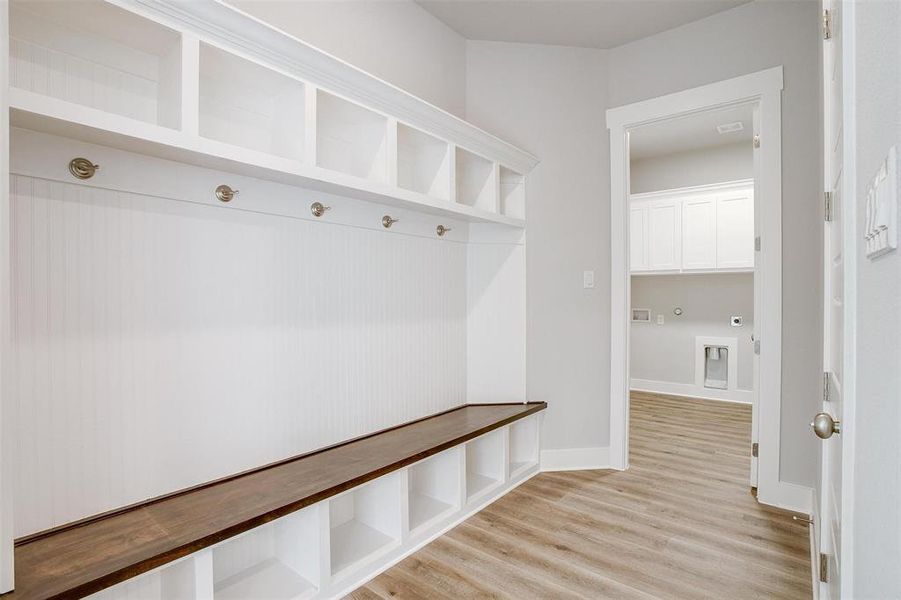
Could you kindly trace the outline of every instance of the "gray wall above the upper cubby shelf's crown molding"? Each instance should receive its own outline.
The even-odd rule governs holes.
[[[459,117],[466,40],[411,0],[226,0]]]

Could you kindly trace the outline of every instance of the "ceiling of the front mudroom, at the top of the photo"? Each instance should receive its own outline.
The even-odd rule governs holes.
[[[750,0],[416,0],[471,40],[613,48]]]

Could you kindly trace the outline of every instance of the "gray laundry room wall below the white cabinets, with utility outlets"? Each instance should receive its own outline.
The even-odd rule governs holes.
[[[695,337],[734,337],[738,341],[738,387],[752,389],[752,273],[633,276],[632,306],[651,309],[650,323],[632,324],[632,377],[694,385]],[[673,314],[677,306],[683,311],[681,316]],[[657,325],[658,314],[664,317],[663,325]],[[732,327],[732,315],[741,315],[744,325]]]

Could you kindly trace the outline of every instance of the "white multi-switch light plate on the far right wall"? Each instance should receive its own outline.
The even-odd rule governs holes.
[[[873,260],[898,247],[898,151],[889,149],[876,176],[867,185],[864,230],[867,258]]]

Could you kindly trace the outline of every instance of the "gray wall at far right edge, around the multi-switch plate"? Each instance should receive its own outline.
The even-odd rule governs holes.
[[[901,3],[855,6],[861,231],[867,183],[901,144]],[[853,597],[901,598],[901,255],[870,261],[863,236],[856,241],[857,339],[845,349],[857,357]]]

